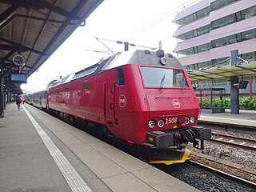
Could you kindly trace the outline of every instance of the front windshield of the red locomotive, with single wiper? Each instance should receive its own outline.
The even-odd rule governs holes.
[[[183,70],[141,66],[145,86],[188,87]]]

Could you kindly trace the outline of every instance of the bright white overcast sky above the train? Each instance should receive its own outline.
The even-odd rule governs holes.
[[[34,92],[45,90],[49,82],[84,69],[110,54],[96,51],[123,51],[116,41],[158,48],[173,53],[177,40],[173,38],[177,25],[173,22],[178,10],[199,0],[104,0],[89,18],[86,26],[79,26],[62,46],[31,74],[22,90]],[[100,42],[96,39],[100,39]],[[106,40],[115,42],[110,42]],[[103,46],[102,43],[106,46]]]

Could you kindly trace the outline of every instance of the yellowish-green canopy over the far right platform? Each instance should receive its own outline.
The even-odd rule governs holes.
[[[254,76],[256,75],[256,61],[242,62],[235,66],[214,66],[209,69],[188,71],[191,82],[230,78],[231,76]]]

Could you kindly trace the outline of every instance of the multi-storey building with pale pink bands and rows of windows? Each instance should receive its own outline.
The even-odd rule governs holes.
[[[231,50],[238,50],[243,61],[256,60],[256,0],[202,0],[180,11],[174,22],[174,52],[189,71],[228,65]],[[228,82],[211,80],[201,86],[214,83]]]

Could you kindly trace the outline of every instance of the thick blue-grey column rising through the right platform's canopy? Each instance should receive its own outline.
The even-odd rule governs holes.
[[[235,66],[238,63],[238,50],[230,51],[230,66]],[[239,89],[238,76],[230,77],[230,100],[231,114],[239,114]]]

